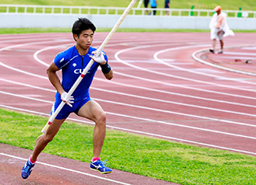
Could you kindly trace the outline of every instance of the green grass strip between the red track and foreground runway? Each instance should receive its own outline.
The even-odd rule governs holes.
[[[32,150],[47,121],[46,117],[0,109],[0,142]],[[87,124],[65,122],[43,152],[90,162],[93,129]],[[254,156],[112,129],[107,130],[101,159],[108,159],[112,169],[173,183],[256,184]]]

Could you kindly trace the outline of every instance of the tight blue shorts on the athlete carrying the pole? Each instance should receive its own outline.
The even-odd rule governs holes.
[[[55,117],[55,119],[56,120],[62,120],[62,119],[66,119],[67,117],[69,117],[70,113],[76,113],[77,114],[78,111],[80,110],[80,108],[82,106],[84,106],[84,104],[87,103],[90,100],[91,100],[91,98],[89,96],[89,93],[87,93],[87,96],[84,96],[82,98],[75,98],[74,103],[71,103],[72,107],[65,103],[65,105],[62,107],[62,110],[59,111],[59,113]],[[52,110],[51,110],[51,115],[58,108],[60,103],[62,103],[62,99],[60,98],[59,93],[56,93],[55,103],[53,103]]]

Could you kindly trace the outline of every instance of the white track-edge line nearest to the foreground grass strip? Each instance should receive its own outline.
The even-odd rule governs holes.
[[[36,112],[34,110],[25,110],[25,109],[16,108],[16,107],[13,107],[13,106],[5,106],[5,105],[1,105],[1,104],[0,104],[0,106],[2,106],[3,108],[11,109],[11,110],[19,110],[19,111],[28,112],[28,113],[36,113],[36,114],[39,114],[39,115],[45,115],[45,113],[39,113],[39,112]],[[120,117],[124,116],[123,114],[118,114],[118,113],[109,113],[109,114],[120,116]],[[48,116],[48,114],[46,116]],[[86,123],[86,124],[94,124],[94,123],[91,123],[91,122],[88,122],[88,121],[85,121],[85,120],[78,120],[78,119],[73,119],[73,118],[69,118],[69,117],[68,117],[68,120],[73,120],[73,121]],[[123,128],[123,127],[113,127],[113,126],[109,126],[108,124],[107,124],[107,127],[112,128],[112,129],[116,129],[116,130],[120,130],[120,131],[130,131],[130,132],[137,133],[137,134],[145,134],[145,135],[158,137],[158,138],[165,138],[165,139],[169,139],[169,140],[187,142],[187,143],[190,143],[190,144],[193,144],[193,145],[203,145],[203,146],[206,146],[206,147],[220,148],[220,149],[223,149],[223,150],[229,150],[229,151],[233,151],[233,152],[242,152],[242,153],[246,153],[246,154],[250,154],[250,155],[256,155],[255,152],[239,150],[239,149],[236,149],[236,148],[227,148],[227,147],[223,147],[223,146],[219,146],[219,145],[211,145],[211,144],[207,144],[207,143],[191,141],[191,140],[186,140],[186,139],[181,139],[181,138],[173,138],[173,137],[169,137],[169,136],[165,136],[165,135],[161,135],[161,134],[153,134],[153,133],[144,132],[144,131],[136,131],[136,130],[131,130],[131,129]]]

